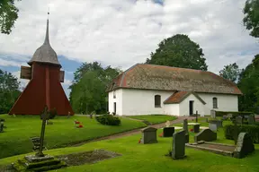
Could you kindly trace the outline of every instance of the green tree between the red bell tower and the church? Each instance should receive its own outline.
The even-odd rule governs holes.
[[[103,68],[98,62],[82,64],[74,73],[74,81],[69,87],[70,102],[76,113],[105,113],[108,103],[106,87],[119,73],[120,69]]]

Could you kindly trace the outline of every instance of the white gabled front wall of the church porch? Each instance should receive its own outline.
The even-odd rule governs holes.
[[[190,94],[186,99],[180,103],[180,116],[189,116],[190,115],[190,101],[193,101],[192,113],[195,114],[198,110],[198,114],[204,113],[204,105],[199,99],[197,99],[193,94]]]

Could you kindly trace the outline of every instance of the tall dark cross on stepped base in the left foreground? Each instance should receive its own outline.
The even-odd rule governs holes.
[[[40,118],[42,120],[42,125],[41,125],[41,132],[40,132],[40,149],[39,151],[35,154],[36,157],[44,157],[44,154],[42,153],[43,150],[43,142],[44,142],[44,134],[45,134],[45,126],[46,126],[46,120],[49,119],[49,108],[46,106],[44,108],[43,113],[40,115]]]

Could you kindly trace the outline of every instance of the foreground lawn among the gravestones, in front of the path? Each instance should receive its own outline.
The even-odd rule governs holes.
[[[157,135],[162,133],[162,129],[157,130]],[[190,140],[193,141],[193,134],[190,134]],[[113,159],[106,159],[94,164],[85,164],[78,167],[69,167],[59,169],[58,172],[156,172],[156,171],[177,171],[177,172],[258,172],[259,164],[259,145],[255,145],[255,153],[245,159],[235,159],[219,154],[214,154],[203,150],[194,150],[186,148],[186,159],[174,160],[165,157],[165,154],[171,149],[172,138],[161,138],[157,136],[158,143],[139,144],[138,139],[141,134],[135,134],[115,140],[101,142],[91,142],[80,147],[70,147],[65,149],[47,150],[45,153],[51,155],[68,154],[85,150],[104,149],[121,153],[122,156]],[[228,142],[224,139],[223,130],[218,132],[217,142]],[[0,165],[10,164],[24,155],[1,159]]]

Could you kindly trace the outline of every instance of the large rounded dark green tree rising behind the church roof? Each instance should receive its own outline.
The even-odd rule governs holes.
[[[187,35],[177,34],[158,44],[155,53],[147,58],[147,64],[168,65],[207,71],[208,65],[202,48]]]

